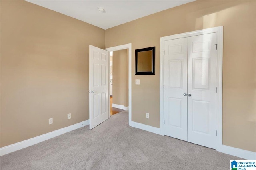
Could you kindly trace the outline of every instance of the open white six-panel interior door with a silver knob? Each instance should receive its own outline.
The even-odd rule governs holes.
[[[89,46],[90,129],[108,119],[108,51]]]

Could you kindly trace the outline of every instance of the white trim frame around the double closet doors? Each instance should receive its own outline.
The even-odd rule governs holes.
[[[222,71],[223,71],[223,26],[185,32],[160,38],[160,134],[164,135],[164,42],[178,38],[198,36],[202,34],[217,34],[216,62],[216,150],[222,152]]]

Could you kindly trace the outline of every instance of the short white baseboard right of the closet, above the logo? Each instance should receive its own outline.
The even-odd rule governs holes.
[[[256,152],[251,152],[248,150],[233,148],[231,146],[222,145],[222,152],[225,154],[230,154],[247,160],[256,160]]]

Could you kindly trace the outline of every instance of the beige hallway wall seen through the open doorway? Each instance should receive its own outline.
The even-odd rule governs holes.
[[[113,52],[113,103],[128,106],[127,49]]]

